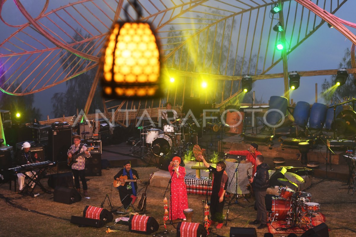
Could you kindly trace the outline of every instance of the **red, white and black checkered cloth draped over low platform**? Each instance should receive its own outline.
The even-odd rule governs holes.
[[[206,188],[208,187],[209,177],[201,177],[197,179],[197,177],[193,174],[187,174],[184,176],[184,182],[187,186],[187,193],[190,194],[206,194]],[[209,183],[208,195],[211,194],[211,190],[213,187],[211,186],[211,179]]]

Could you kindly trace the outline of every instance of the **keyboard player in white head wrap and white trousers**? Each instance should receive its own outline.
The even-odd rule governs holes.
[[[21,151],[17,152],[16,155],[16,165],[21,166],[21,165],[28,165],[32,163],[36,163],[39,161],[36,161],[34,154],[32,151],[30,151],[31,144],[26,142],[23,142]],[[26,175],[29,177],[33,177],[36,175],[35,171],[28,171],[26,172]],[[23,173],[18,173],[17,174],[17,182],[19,182],[19,190],[22,191],[22,189],[25,186],[25,174]],[[31,188],[35,187],[35,183],[31,184]]]

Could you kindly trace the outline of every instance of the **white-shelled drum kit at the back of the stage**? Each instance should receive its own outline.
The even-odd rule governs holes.
[[[161,157],[170,152],[182,155],[185,150],[189,149],[190,145],[195,144],[197,141],[195,141],[196,138],[194,136],[197,135],[194,129],[189,123],[176,123],[179,120],[176,119],[172,124],[164,125],[163,131],[158,128],[152,128],[152,125],[140,127],[142,157],[147,154]],[[132,147],[131,150],[135,153],[135,147]]]

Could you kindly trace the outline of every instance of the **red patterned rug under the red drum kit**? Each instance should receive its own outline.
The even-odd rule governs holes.
[[[283,234],[289,234],[289,233],[295,233],[296,235],[300,235],[304,233],[306,230],[308,230],[307,223],[309,223],[309,218],[303,218],[299,227],[293,227],[293,228],[288,228],[290,227],[289,225],[286,225],[286,221],[273,221],[272,225],[271,223],[268,223],[268,232],[272,234],[277,234],[277,235],[283,235]],[[315,214],[315,217],[312,217],[312,224],[314,226],[320,225],[321,223],[325,222],[325,216],[321,213]]]

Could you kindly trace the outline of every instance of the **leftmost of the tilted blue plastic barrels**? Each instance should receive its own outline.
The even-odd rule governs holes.
[[[286,97],[271,96],[271,98],[269,98],[268,105],[269,105],[268,111],[270,111],[271,109],[278,109],[284,114],[284,116],[287,115],[288,99]],[[271,125],[278,124],[278,121],[281,119],[282,119],[281,113],[276,111],[268,112],[266,116],[267,123]]]

